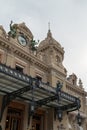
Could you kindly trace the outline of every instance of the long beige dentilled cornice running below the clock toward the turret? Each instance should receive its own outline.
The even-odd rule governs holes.
[[[40,66],[41,68],[43,68],[44,70],[48,71],[49,68],[44,62],[42,62],[39,58],[30,54],[29,52],[26,52],[19,46],[16,46],[13,42],[9,41],[9,39],[6,39],[6,38],[3,38],[0,36],[0,45],[5,47],[7,50],[9,48],[10,51],[13,51],[14,54],[17,54],[18,56],[20,56],[28,61],[34,62],[34,64],[36,64],[36,65]]]

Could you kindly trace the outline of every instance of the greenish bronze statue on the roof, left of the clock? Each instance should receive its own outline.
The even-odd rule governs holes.
[[[10,31],[8,32],[8,35],[11,36],[12,38],[16,37],[16,33],[17,33],[17,24],[13,24],[13,21],[11,21],[10,23]]]

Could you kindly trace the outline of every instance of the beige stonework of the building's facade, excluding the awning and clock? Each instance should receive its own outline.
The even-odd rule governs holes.
[[[33,35],[24,23],[17,24],[17,27],[17,36],[19,32],[22,32],[27,36],[29,41],[32,40]],[[20,65],[24,68],[23,72],[25,74],[31,75],[32,77],[39,75],[42,77],[43,82],[49,82],[53,87],[56,87],[57,81],[60,81],[63,84],[63,91],[80,98],[80,112],[83,118],[82,127],[84,130],[87,130],[87,92],[83,89],[81,81],[79,85],[77,84],[77,77],[75,74],[71,74],[67,78],[67,70],[63,65],[64,48],[52,37],[50,30],[48,30],[45,40],[40,42],[36,55],[29,48],[29,41],[27,45],[23,47],[18,43],[17,36],[14,39],[8,37],[3,27],[0,26],[1,63],[11,66],[14,69],[16,64]],[[0,105],[1,101],[0,97]],[[27,115],[27,104],[25,106],[25,115]],[[64,112],[62,122],[59,122],[57,119],[54,120],[52,109],[48,111],[48,114],[50,117],[47,114],[45,115],[44,130],[58,130],[61,124],[65,130],[76,130],[75,117],[77,113],[72,112],[67,115],[67,113]],[[5,129],[5,118],[6,114],[4,114],[2,122],[3,130]],[[27,123],[25,123],[25,128],[23,130],[27,130],[27,127]]]

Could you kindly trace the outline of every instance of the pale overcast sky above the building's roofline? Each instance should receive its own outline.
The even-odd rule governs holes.
[[[64,47],[67,75],[76,74],[87,91],[87,0],[0,0],[0,25],[25,22],[34,39],[48,32]]]

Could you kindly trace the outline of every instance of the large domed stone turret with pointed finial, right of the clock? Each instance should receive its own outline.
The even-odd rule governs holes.
[[[52,37],[50,29],[48,30],[47,37],[38,46],[37,56],[49,66],[60,70],[66,75],[66,69],[62,64],[64,48]]]

